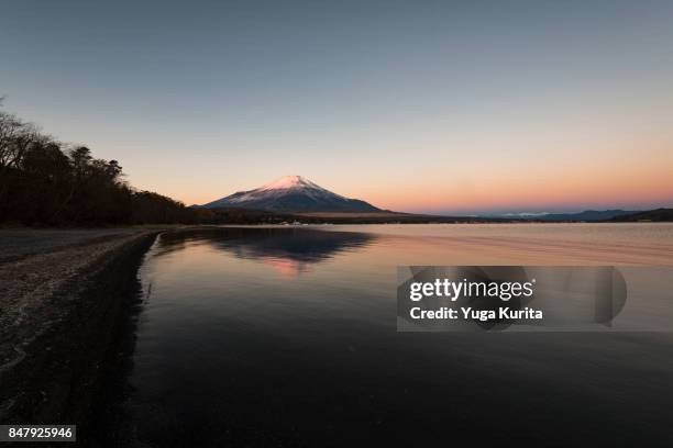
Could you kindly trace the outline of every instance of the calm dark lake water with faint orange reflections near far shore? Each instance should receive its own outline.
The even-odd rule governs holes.
[[[671,446],[670,333],[396,332],[396,266],[516,264],[671,266],[673,225],[162,235],[107,425],[151,447]]]

